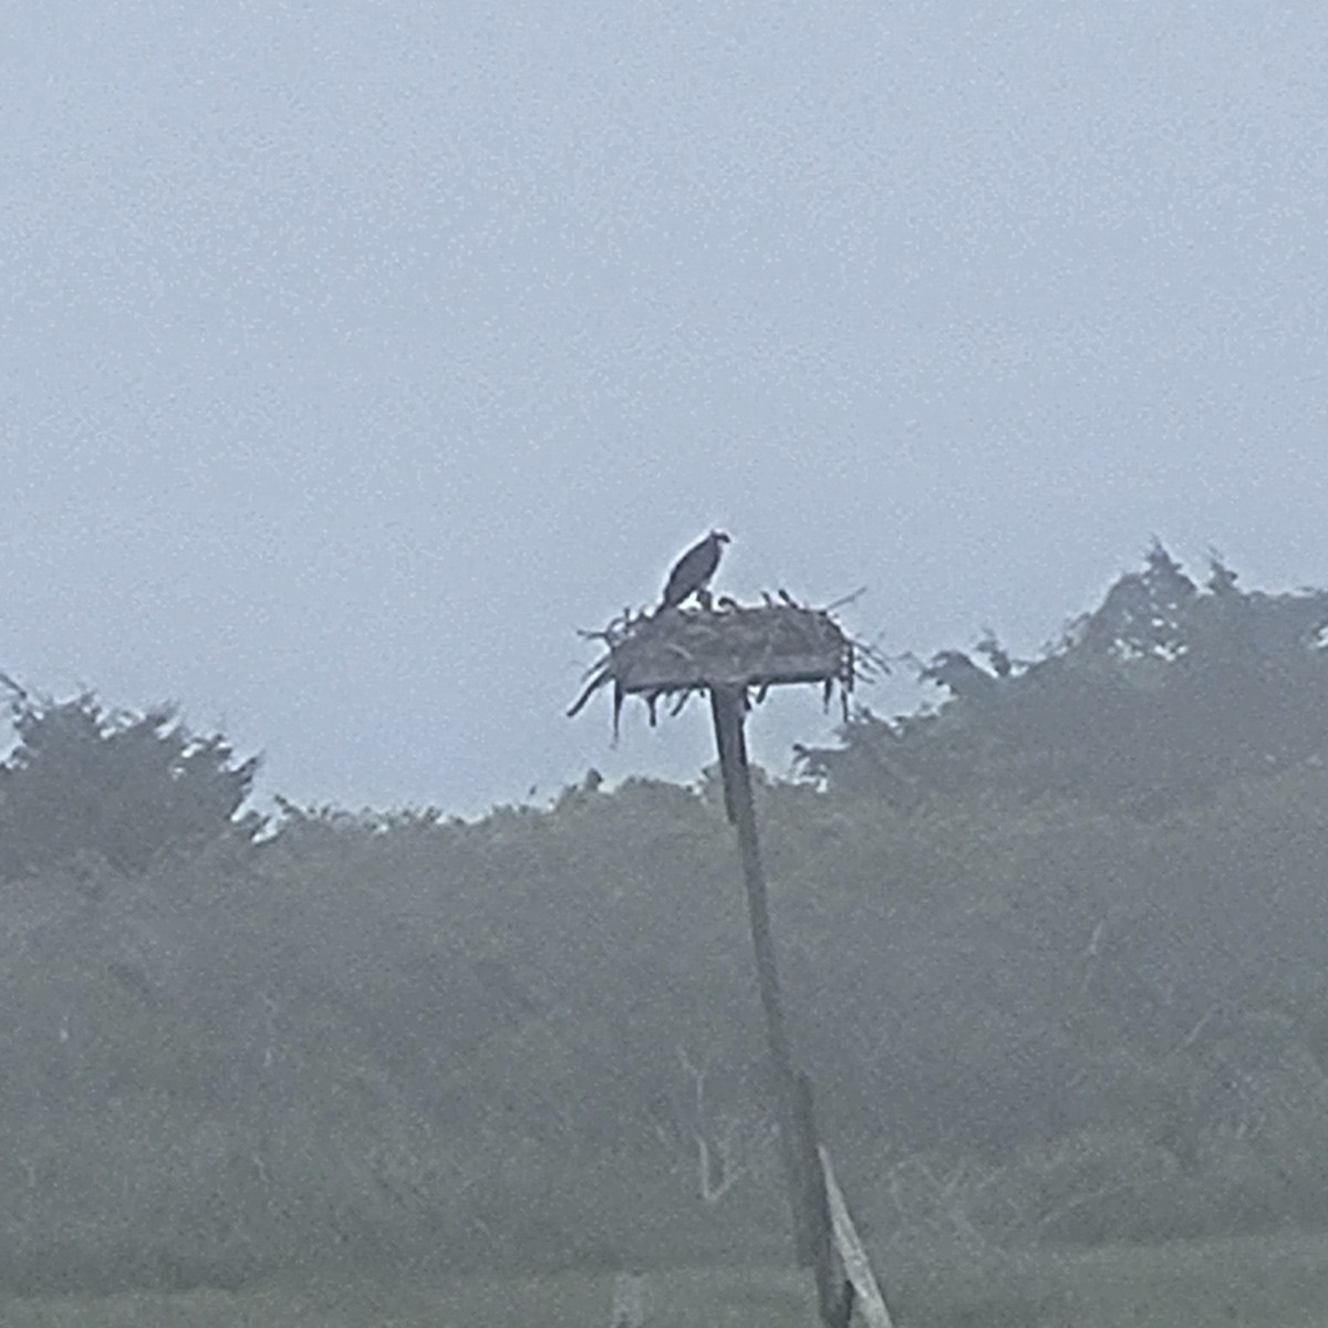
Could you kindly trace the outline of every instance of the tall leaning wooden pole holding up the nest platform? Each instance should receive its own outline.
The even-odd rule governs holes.
[[[784,1021],[780,971],[774,961],[774,936],[770,930],[770,907],[765,872],[761,867],[761,845],[756,833],[752,770],[744,734],[745,706],[741,687],[710,688],[714,741],[724,780],[724,806],[737,830],[738,851],[742,858],[742,883],[746,887],[748,920],[752,926],[752,948],[756,952],[757,987],[761,992],[761,1009],[765,1012],[765,1032],[774,1078],[780,1149],[788,1182],[789,1208],[793,1215],[793,1243],[798,1263],[815,1270],[822,1321],[835,1324],[846,1320],[849,1307],[841,1300],[841,1288],[833,1272],[830,1215],[813,1122],[811,1085],[806,1076],[794,1072],[788,1027]]]

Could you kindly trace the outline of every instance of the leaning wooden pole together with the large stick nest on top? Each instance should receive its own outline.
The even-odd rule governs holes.
[[[846,701],[855,680],[854,647],[827,611],[791,602],[753,607],[725,603],[724,608],[706,603],[696,610],[624,614],[604,632],[590,633],[604,640],[608,652],[568,713],[575,714],[607,685],[614,689],[615,729],[628,696],[645,700],[653,724],[661,703],[677,713],[693,693],[709,695],[724,806],[742,867],[794,1252],[801,1267],[814,1271],[822,1323],[843,1328],[854,1293],[835,1251],[811,1084],[798,1072],[789,1044],[745,724],[753,699],[764,699],[776,685],[817,684],[827,701],[838,688]]]

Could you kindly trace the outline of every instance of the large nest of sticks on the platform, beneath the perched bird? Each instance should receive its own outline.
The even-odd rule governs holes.
[[[806,608],[791,599],[748,607],[724,599],[718,607],[637,615],[624,611],[603,631],[582,635],[604,641],[608,649],[588,669],[588,681],[567,713],[579,713],[600,688],[612,684],[615,737],[624,697],[644,697],[653,725],[661,700],[672,703],[676,714],[695,692],[714,687],[741,689],[749,703],[760,703],[776,684],[811,683],[823,688],[826,705],[838,688],[847,717],[849,693],[870,656],[829,610]]]

